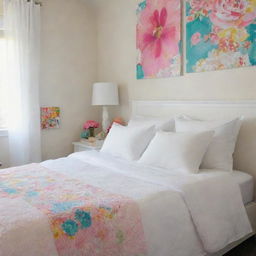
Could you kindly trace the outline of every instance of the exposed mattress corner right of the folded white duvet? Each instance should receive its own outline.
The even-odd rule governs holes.
[[[245,172],[241,171],[233,171],[232,179],[239,185],[243,202],[244,204],[248,204],[253,201],[254,195],[254,180],[253,177]]]

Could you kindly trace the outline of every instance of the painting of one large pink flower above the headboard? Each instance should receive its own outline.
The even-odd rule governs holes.
[[[180,0],[144,0],[137,15],[137,78],[180,75]]]

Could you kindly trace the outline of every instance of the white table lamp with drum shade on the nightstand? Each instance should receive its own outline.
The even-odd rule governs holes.
[[[110,126],[107,106],[119,105],[118,87],[115,83],[95,83],[92,91],[92,105],[103,106],[102,130],[107,133]]]

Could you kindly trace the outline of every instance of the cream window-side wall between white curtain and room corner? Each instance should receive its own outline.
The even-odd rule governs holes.
[[[91,107],[97,68],[94,16],[87,1],[43,1],[40,101],[61,108],[61,128],[42,131],[43,159],[71,153],[83,122],[100,120],[100,109]],[[8,166],[6,137],[0,137],[0,161]]]

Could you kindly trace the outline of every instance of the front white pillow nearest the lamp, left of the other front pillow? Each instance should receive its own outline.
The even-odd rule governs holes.
[[[128,127],[114,123],[101,152],[126,160],[138,160],[155,135],[155,127]]]

